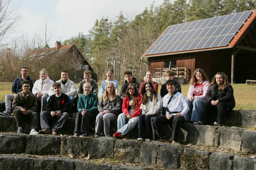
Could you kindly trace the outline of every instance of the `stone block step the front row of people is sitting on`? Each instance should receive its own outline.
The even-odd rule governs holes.
[[[22,121],[24,131],[29,134],[30,125],[26,120]],[[74,132],[74,118],[69,118],[63,135],[72,135]],[[15,118],[12,116],[0,116],[0,132],[15,132],[17,130]],[[94,127],[94,125],[92,125]],[[167,139],[172,137],[172,128],[165,125]],[[111,134],[116,132],[116,124],[111,124]],[[93,135],[92,131],[90,135]],[[137,139],[138,127],[135,127],[127,135],[127,138]],[[216,146],[230,148],[234,151],[256,153],[256,131],[237,127],[215,127],[211,125],[193,125],[185,122],[179,133],[179,143],[204,146]]]

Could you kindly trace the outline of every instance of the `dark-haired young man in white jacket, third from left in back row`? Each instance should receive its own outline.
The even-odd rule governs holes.
[[[68,72],[67,70],[62,70],[61,71],[61,79],[59,82],[61,84],[61,93],[64,93],[68,96],[69,99],[69,111],[68,114],[72,114],[72,106],[74,104],[75,96],[76,96],[76,84],[73,81],[70,81],[68,79]],[[51,95],[54,95],[54,89],[51,88],[48,91],[49,97],[47,98],[47,101],[51,97]]]

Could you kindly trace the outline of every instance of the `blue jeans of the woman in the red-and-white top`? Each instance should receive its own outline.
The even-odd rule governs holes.
[[[189,111],[186,114],[186,120],[188,121],[199,121],[201,120],[202,109],[205,104],[205,100],[195,98],[193,102],[190,102],[189,98],[186,98]]]

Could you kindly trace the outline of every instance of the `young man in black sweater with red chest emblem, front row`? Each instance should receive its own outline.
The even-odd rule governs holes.
[[[52,128],[52,135],[58,135],[58,132],[68,121],[69,98],[64,93],[61,93],[61,84],[55,82],[52,85],[55,95],[51,95],[48,100],[46,111],[40,114],[40,123],[42,130],[39,134],[50,134],[49,120],[52,118],[58,119],[58,122]]]

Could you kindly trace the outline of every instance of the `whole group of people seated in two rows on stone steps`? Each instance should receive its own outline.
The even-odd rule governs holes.
[[[158,83],[152,81],[152,72],[148,71],[146,81],[140,84],[132,72],[126,71],[125,82],[118,95],[118,81],[113,77],[113,70],[109,69],[107,79],[100,84],[99,99],[97,82],[92,79],[89,70],[84,71],[84,79],[77,88],[68,79],[66,70],[61,71],[61,79],[54,83],[49,79],[47,70],[42,69],[40,79],[35,84],[28,71],[26,66],[21,68],[20,77],[13,82],[13,95],[5,96],[6,111],[0,113],[10,116],[13,109],[17,133],[23,132],[23,117],[31,119],[31,135],[58,135],[68,117],[75,116],[74,137],[88,136],[90,121],[93,120],[94,137],[102,134],[111,137],[110,122],[117,121],[117,131],[113,134],[115,138],[124,138],[138,125],[138,141],[151,141],[154,130],[159,140],[164,141],[163,125],[170,125],[172,143],[177,143],[180,127],[185,120],[206,125],[209,112],[216,111],[218,117],[214,125],[221,126],[226,112],[235,106],[233,88],[228,84],[227,75],[216,73],[210,84],[200,68],[195,70],[189,82],[188,98],[182,95],[179,82],[173,80],[172,70],[165,72],[166,82],[162,84],[160,94],[157,93]],[[72,107],[77,109],[76,114],[73,114]],[[49,121],[52,119],[56,119],[57,123],[51,128]]]

